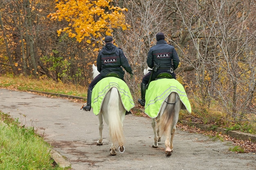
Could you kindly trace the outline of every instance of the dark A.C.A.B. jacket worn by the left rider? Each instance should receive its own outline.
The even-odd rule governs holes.
[[[117,48],[112,43],[107,43],[102,48],[97,57],[97,69],[102,76],[106,76],[110,72],[117,73],[120,78],[124,78],[124,71],[121,66],[130,74],[132,68],[128,63],[126,56],[122,49]]]

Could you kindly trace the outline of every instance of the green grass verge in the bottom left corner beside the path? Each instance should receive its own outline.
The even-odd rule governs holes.
[[[63,170],[54,166],[51,147],[35,134],[34,128],[20,126],[1,111],[0,118],[1,170]]]

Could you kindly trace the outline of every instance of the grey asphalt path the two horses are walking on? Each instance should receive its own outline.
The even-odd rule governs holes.
[[[124,135],[126,151],[109,155],[108,127],[104,122],[103,146],[99,137],[98,117],[80,110],[81,103],[45,97],[34,93],[0,88],[0,110],[33,126],[52,145],[58,157],[72,170],[256,170],[255,153],[230,152],[229,142],[177,129],[171,157],[165,157],[164,139],[152,148],[151,119],[126,115]]]

